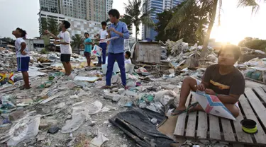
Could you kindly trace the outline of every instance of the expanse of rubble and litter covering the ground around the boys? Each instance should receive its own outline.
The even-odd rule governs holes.
[[[0,144],[126,147],[137,146],[136,142],[147,143],[148,146],[174,142],[155,128],[163,121],[165,114],[170,115],[177,105],[184,78],[192,76],[201,79],[206,65],[200,66],[195,62],[201,48],[197,45],[189,47],[179,40],[168,42],[168,47],[171,54],[165,61],[173,68],[163,71],[157,65],[153,71],[148,71],[145,66],[134,69],[133,65],[127,65],[127,90],[121,86],[119,71],[113,73],[112,88],[102,90],[101,87],[106,83],[104,66],[102,69],[86,68],[86,59],[78,54],[72,54],[72,73],[75,77],[73,81],[69,81],[65,78],[59,53],[31,52],[28,72],[32,88],[19,90],[23,80],[19,78],[21,73],[16,72],[14,85],[3,83],[0,86]],[[11,51],[1,52],[2,57],[16,59],[16,54]],[[3,68],[1,71],[14,71],[13,67],[10,68],[11,64],[4,66],[7,59],[0,60]],[[216,54],[209,49],[206,63],[213,64],[216,61]],[[97,61],[92,60],[92,63]],[[15,66],[16,60],[12,64]],[[190,70],[192,66],[197,68]],[[145,115],[140,116],[138,112]],[[131,122],[134,120],[132,118],[145,119],[142,123],[150,126],[143,127],[141,121]],[[139,123],[142,129],[153,128],[147,132],[153,131],[157,138],[152,141],[138,140],[138,137],[133,136],[135,134],[121,129],[124,126],[122,124],[134,129],[137,127],[134,123]],[[140,136],[147,136],[145,132],[138,133]],[[191,141],[186,141],[184,145],[187,146],[187,143],[189,146],[196,145]],[[201,144],[209,146],[211,142]]]

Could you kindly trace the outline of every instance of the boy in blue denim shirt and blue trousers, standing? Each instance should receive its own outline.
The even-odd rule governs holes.
[[[129,38],[128,27],[126,23],[119,21],[120,13],[116,9],[109,11],[109,17],[111,21],[110,29],[108,30],[108,37],[118,37],[115,40],[111,40],[108,49],[108,65],[106,72],[106,86],[103,88],[111,88],[111,78],[113,73],[113,64],[117,61],[121,79],[124,88],[126,87],[126,69],[125,69],[125,57],[124,57],[124,39]]]

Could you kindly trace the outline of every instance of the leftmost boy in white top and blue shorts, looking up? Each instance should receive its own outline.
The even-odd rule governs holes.
[[[16,30],[13,30],[12,34],[16,37],[15,46],[18,71],[21,71],[24,80],[24,86],[21,86],[21,90],[30,89],[30,82],[28,80],[28,64],[30,63],[30,57],[28,55],[27,44],[25,40],[23,40],[27,33],[21,28],[16,28]]]

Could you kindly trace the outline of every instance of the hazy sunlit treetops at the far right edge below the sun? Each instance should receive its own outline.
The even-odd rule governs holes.
[[[239,42],[240,47],[248,47],[250,49],[259,49],[262,51],[266,51],[266,40],[260,40],[258,38],[253,37],[245,37],[244,40]]]

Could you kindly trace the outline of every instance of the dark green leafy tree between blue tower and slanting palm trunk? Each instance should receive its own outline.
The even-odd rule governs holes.
[[[202,13],[201,6],[196,4],[189,4],[189,10],[191,10],[191,12],[186,14],[186,18],[172,25],[170,29],[165,30],[172,18],[179,13],[179,9],[183,8],[187,3],[189,3],[189,1],[179,4],[176,8],[157,14],[157,20],[159,20],[159,22],[156,24],[155,30],[158,35],[155,37],[155,40],[166,41],[169,39],[177,41],[183,38],[184,42],[189,42],[191,44],[196,42],[199,44],[203,43],[204,34],[206,33],[205,26],[208,24],[208,20],[206,19],[208,13],[205,13],[204,17],[199,17]]]

